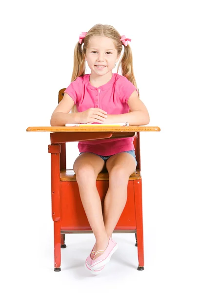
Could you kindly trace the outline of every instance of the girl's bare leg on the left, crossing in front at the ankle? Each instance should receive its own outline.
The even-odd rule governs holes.
[[[109,241],[103,222],[100,195],[96,187],[96,179],[103,166],[104,161],[99,156],[84,153],[76,159],[73,167],[79,186],[80,199],[96,238],[95,251],[105,250]],[[91,257],[93,256],[94,254],[91,255]]]

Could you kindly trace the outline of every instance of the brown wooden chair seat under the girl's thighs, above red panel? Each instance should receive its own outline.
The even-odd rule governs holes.
[[[139,180],[141,178],[140,170],[136,169],[136,171],[131,174],[129,180]],[[107,170],[103,170],[98,174],[97,180],[109,180],[109,175]],[[76,181],[76,174],[73,169],[69,170],[60,170],[60,181]]]

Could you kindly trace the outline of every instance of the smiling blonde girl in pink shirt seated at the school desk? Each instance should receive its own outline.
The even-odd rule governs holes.
[[[51,126],[67,123],[108,124],[128,122],[131,126],[147,125],[149,113],[139,99],[132,65],[131,39],[111,25],[96,24],[80,34],[74,50],[71,84],[54,110]],[[122,75],[112,73],[120,59]],[[85,61],[91,74],[85,74]],[[72,109],[71,113],[70,110]],[[136,170],[134,137],[79,142],[79,157],[73,169],[80,198],[96,243],[85,261],[93,274],[102,271],[117,250],[112,239],[127,199],[129,176]],[[109,188],[104,200],[103,214],[96,187],[98,174],[106,168]]]

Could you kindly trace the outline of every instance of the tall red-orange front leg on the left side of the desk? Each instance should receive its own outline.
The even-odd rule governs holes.
[[[51,203],[54,221],[54,271],[60,272],[60,144],[49,145],[51,153]]]

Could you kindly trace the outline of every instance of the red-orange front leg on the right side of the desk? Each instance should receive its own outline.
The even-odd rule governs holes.
[[[134,180],[135,209],[136,209],[136,229],[138,244],[138,271],[144,270],[144,245],[143,245],[143,220],[142,220],[142,189],[141,179]]]

